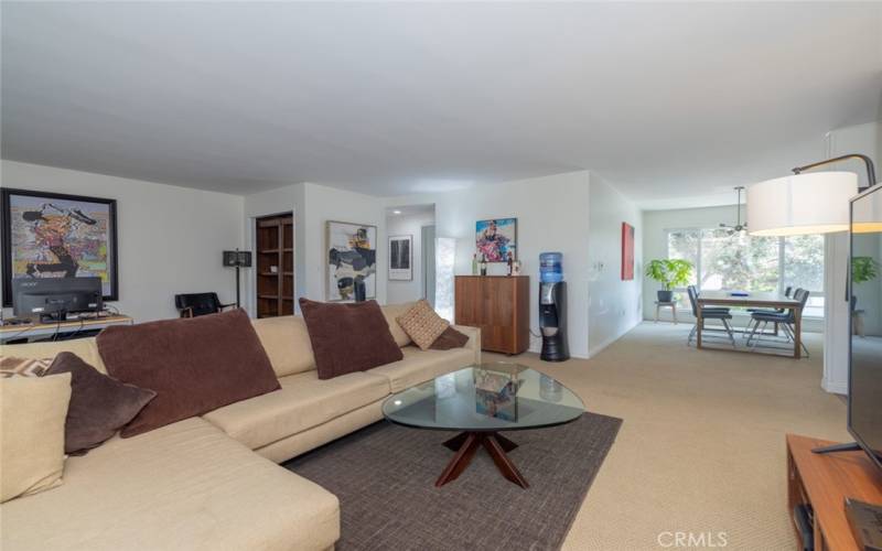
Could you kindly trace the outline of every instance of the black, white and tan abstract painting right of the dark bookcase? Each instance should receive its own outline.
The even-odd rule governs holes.
[[[329,301],[354,301],[364,283],[365,298],[377,295],[377,227],[346,222],[326,223]]]

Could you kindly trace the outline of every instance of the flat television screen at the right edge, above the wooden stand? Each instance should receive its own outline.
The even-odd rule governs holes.
[[[882,468],[882,185],[851,202],[849,431]]]

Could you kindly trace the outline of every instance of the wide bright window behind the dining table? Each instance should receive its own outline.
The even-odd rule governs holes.
[[[725,228],[667,231],[668,258],[696,267],[699,290],[778,291],[804,288],[811,294],[805,315],[824,315],[824,236],[759,237]],[[679,305],[689,307],[685,289]]]

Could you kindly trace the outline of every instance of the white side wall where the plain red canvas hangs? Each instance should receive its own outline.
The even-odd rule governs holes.
[[[643,317],[643,220],[641,210],[607,181],[591,173],[588,258],[589,354],[594,356]],[[634,279],[622,281],[622,223],[634,226]]]

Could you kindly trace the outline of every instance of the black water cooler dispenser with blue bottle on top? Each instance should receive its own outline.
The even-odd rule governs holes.
[[[542,334],[540,358],[563,361],[570,358],[567,346],[567,282],[563,281],[560,252],[539,255],[539,331]]]

